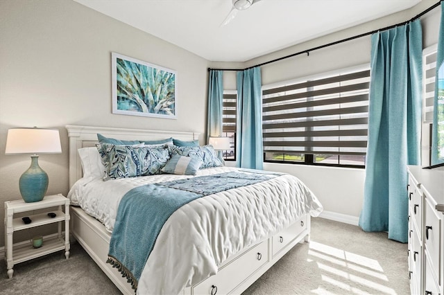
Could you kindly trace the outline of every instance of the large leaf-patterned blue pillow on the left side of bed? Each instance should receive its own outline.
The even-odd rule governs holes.
[[[160,174],[170,159],[164,147],[135,147],[132,145],[96,145],[105,165],[103,180]]]

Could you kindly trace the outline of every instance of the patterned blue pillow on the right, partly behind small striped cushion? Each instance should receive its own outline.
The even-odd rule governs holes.
[[[171,156],[173,154],[179,154],[180,156],[196,157],[201,162],[199,169],[223,166],[212,145],[203,145],[200,147],[178,147],[171,145],[169,146],[169,150]]]

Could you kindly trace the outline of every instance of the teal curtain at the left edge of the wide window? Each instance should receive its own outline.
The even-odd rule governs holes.
[[[237,71],[236,142],[236,166],[262,170],[262,79],[258,66]]]

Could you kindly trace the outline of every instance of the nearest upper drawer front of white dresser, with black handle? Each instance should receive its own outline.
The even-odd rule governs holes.
[[[430,204],[429,200],[425,199],[425,225],[424,225],[424,240],[425,250],[431,262],[431,269],[437,278],[441,278],[441,226],[442,220],[436,215],[434,206]]]

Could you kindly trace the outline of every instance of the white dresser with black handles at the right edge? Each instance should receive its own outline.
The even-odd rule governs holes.
[[[444,170],[407,170],[411,294],[444,295]]]

